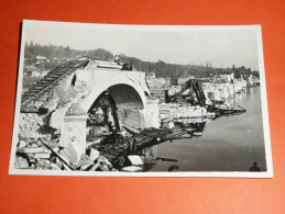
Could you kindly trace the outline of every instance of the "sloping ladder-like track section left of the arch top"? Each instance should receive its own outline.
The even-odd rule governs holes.
[[[58,85],[58,81],[61,79],[72,75],[78,68],[87,66],[88,63],[88,59],[75,59],[56,67],[54,70],[48,72],[47,76],[41,79],[35,86],[24,92],[21,100],[22,105],[28,104],[31,100],[39,100],[40,97],[44,95],[47,91],[54,89],[54,87]]]

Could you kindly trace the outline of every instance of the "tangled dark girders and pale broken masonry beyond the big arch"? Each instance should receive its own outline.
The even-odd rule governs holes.
[[[245,90],[245,81],[237,82],[239,91]],[[244,82],[245,87],[242,85]],[[198,79],[189,79],[184,86],[165,90],[165,103],[160,104],[160,116],[163,122],[168,122],[174,119],[217,117],[245,112],[242,106],[228,102],[233,101],[233,97],[234,83],[202,83]]]

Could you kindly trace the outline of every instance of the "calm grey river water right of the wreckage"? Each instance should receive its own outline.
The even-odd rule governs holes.
[[[235,94],[234,104],[246,112],[208,121],[200,137],[157,145],[154,156],[177,161],[156,160],[149,171],[249,171],[253,161],[266,171],[260,88]]]

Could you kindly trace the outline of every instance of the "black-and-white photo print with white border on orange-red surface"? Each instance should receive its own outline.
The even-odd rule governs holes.
[[[24,20],[9,173],[272,178],[261,25]]]

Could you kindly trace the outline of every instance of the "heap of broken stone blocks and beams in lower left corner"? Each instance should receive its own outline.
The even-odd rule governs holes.
[[[61,147],[55,140],[43,138],[20,140],[17,147],[14,167],[36,170],[117,171],[99,151],[90,148],[81,154],[69,144]]]

